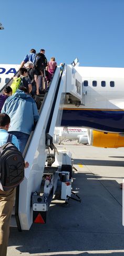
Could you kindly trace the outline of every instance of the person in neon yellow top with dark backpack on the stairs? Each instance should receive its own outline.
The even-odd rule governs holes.
[[[13,90],[13,94],[16,92],[17,89],[20,87],[26,87],[28,93],[32,91],[32,84],[28,77],[28,72],[26,68],[20,68],[18,77],[13,78],[13,83],[11,84],[11,88]]]

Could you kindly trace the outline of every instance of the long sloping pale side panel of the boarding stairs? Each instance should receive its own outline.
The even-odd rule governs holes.
[[[37,125],[30,135],[24,152],[25,160],[29,162],[29,168],[25,170],[24,181],[18,187],[16,193],[15,216],[19,230],[29,230],[33,223],[33,209],[30,207],[30,198],[33,192],[40,190],[48,151],[46,128],[48,123],[50,124],[51,113],[55,107],[56,92],[60,86],[61,90],[64,91],[65,83],[63,81],[65,78],[64,73],[60,76],[60,70],[56,68],[50,88],[43,100]],[[56,119],[57,116],[54,116],[54,118]]]

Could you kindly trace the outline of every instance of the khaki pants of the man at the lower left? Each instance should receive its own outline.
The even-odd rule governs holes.
[[[0,189],[0,256],[6,256],[9,223],[13,211],[14,198],[16,189],[2,191]]]

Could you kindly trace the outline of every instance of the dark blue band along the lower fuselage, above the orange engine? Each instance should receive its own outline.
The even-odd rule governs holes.
[[[124,132],[124,110],[63,109],[61,126]]]

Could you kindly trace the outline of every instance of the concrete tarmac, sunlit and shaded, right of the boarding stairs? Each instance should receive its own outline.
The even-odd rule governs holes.
[[[81,203],[51,202],[46,224],[29,231],[11,228],[7,256],[123,256],[122,189],[124,148],[95,148],[64,141],[72,153],[73,192]]]

